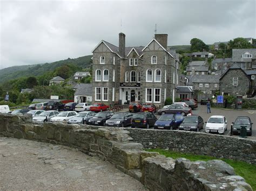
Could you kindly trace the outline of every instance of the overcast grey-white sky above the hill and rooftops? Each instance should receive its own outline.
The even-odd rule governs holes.
[[[169,46],[256,38],[255,0],[0,2],[0,69],[89,55],[100,40],[118,46],[120,31],[126,46],[145,46],[155,24]]]

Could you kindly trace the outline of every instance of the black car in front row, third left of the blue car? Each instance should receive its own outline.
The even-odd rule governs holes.
[[[107,119],[110,119],[112,115],[114,115],[112,111],[98,112],[98,114],[89,119],[88,124],[106,126]]]

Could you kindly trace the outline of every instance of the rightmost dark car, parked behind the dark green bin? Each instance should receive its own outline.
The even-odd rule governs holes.
[[[252,121],[250,117],[239,116],[232,122],[231,128],[233,135],[240,134],[241,126],[246,126],[248,136],[252,136]]]

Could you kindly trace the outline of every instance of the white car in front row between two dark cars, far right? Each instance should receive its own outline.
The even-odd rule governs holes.
[[[223,134],[227,130],[227,119],[225,116],[213,115],[205,123],[206,133],[218,132],[219,134]]]

